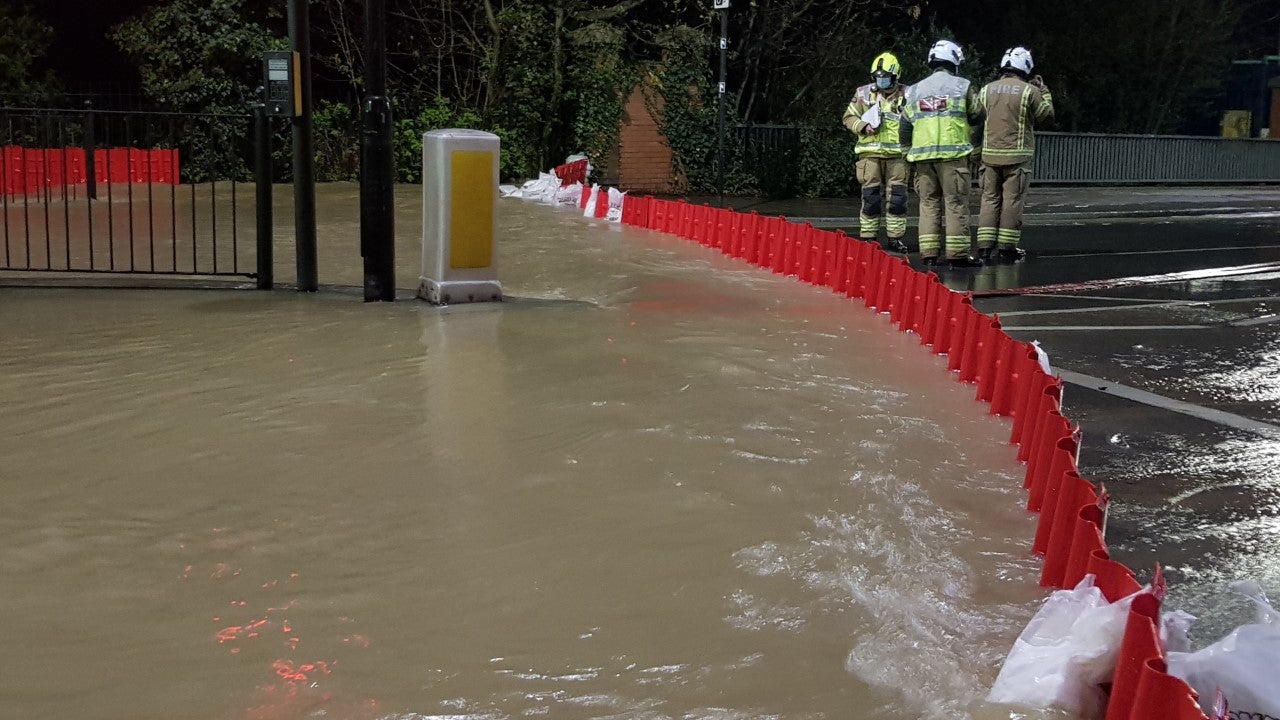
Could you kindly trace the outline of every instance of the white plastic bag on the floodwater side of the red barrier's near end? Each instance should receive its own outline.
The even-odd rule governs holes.
[[[1101,684],[1115,674],[1134,597],[1107,602],[1093,575],[1053,592],[1014,641],[987,701],[1101,717]]]

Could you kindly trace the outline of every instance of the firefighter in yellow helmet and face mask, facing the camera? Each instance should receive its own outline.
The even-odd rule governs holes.
[[[863,193],[858,234],[863,240],[878,241],[883,214],[888,250],[906,254],[902,238],[906,237],[908,167],[899,138],[902,86],[897,78],[901,69],[892,53],[877,55],[872,60],[872,82],[854,94],[844,123],[858,136],[854,152],[858,155],[858,184]]]

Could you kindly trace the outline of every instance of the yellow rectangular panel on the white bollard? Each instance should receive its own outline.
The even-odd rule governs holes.
[[[493,152],[454,150],[449,201],[449,266],[493,264]]]

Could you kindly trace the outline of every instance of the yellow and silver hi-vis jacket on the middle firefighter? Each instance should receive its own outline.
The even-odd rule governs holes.
[[[963,77],[947,70],[906,88],[901,142],[910,146],[909,163],[959,160],[973,152],[970,123],[980,118],[978,94]]]

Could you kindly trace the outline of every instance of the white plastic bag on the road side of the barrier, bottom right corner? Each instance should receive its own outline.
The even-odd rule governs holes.
[[[1236,580],[1230,587],[1253,601],[1254,621],[1203,650],[1170,652],[1169,674],[1199,693],[1206,712],[1221,688],[1233,715],[1280,717],[1280,611],[1253,580]]]

